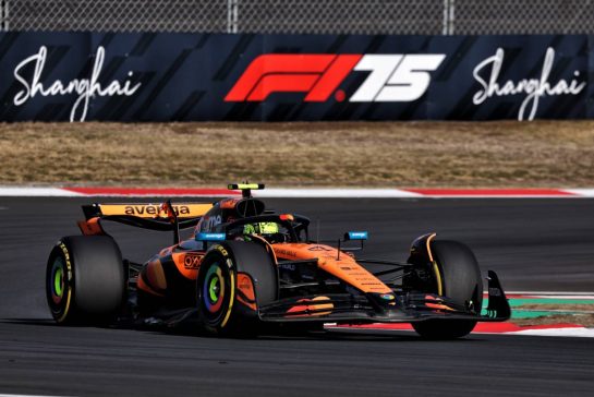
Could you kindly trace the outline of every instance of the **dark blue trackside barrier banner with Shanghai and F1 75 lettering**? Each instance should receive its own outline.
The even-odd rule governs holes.
[[[0,121],[586,119],[593,37],[0,33]]]

